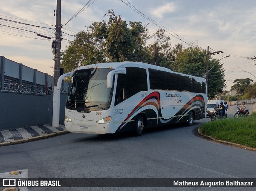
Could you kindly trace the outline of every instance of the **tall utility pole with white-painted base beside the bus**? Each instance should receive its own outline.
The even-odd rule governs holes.
[[[60,45],[61,45],[61,0],[57,0],[56,6],[56,31],[55,31],[55,55],[54,55],[54,89],[52,107],[52,126],[60,126],[60,91],[57,89],[60,77]]]

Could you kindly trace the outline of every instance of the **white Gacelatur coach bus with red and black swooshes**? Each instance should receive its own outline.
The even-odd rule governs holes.
[[[66,130],[111,134],[206,117],[206,80],[141,62],[98,63],[75,69],[66,110]],[[61,79],[62,78],[62,79]]]

